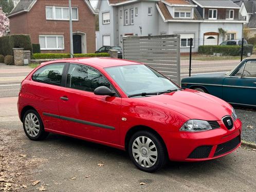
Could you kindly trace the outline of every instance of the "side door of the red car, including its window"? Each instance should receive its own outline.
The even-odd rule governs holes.
[[[69,65],[59,102],[62,125],[69,135],[118,145],[121,98],[95,95],[99,86],[113,89],[95,68]]]

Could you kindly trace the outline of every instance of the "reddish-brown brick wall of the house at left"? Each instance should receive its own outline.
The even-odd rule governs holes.
[[[78,7],[78,14],[79,14],[79,21],[73,21],[73,32],[83,32],[86,33],[86,49],[87,53],[94,53],[95,52],[95,15],[90,11],[83,0],[72,0],[71,1],[72,7]],[[41,51],[43,52],[56,52],[56,53],[68,53],[70,51],[70,43],[69,43],[69,21],[51,21],[46,20],[45,15],[45,6],[62,6],[68,7],[68,1],[63,0],[38,0],[32,9],[26,13],[27,14],[27,22],[22,20],[22,23],[27,23],[28,32],[25,30],[18,30],[19,33],[29,33],[31,36],[32,43],[39,43],[39,35],[44,34],[62,34],[64,35],[64,50],[46,50]],[[14,16],[10,19],[11,26],[11,33],[12,28],[19,27],[12,27],[16,26],[17,23]],[[21,21],[21,20],[20,20]],[[16,29],[15,29],[16,30]],[[14,31],[15,31],[14,30]],[[15,32],[17,33],[17,32]]]

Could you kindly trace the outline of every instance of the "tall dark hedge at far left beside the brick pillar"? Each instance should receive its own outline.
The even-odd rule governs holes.
[[[13,55],[12,48],[24,48],[32,53],[30,36],[26,34],[13,34],[0,37],[0,54]]]

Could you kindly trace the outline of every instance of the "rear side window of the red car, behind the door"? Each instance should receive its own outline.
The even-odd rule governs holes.
[[[50,64],[41,67],[32,75],[32,80],[51,85],[61,85],[62,73],[65,64]]]

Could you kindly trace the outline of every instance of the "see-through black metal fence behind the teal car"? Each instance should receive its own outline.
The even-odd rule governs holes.
[[[196,74],[226,73],[244,58],[253,56],[253,45],[254,42],[244,39],[181,39],[181,79]]]

